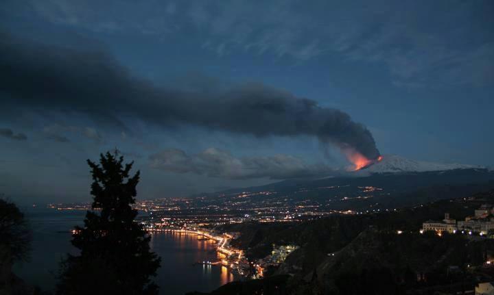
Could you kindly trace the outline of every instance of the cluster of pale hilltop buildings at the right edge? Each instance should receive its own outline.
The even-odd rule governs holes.
[[[436,231],[456,233],[456,231],[467,231],[469,233],[480,233],[486,235],[490,230],[494,230],[494,208],[491,205],[482,205],[475,209],[474,216],[468,216],[464,221],[456,222],[455,219],[449,218],[445,214],[442,221],[427,220],[422,224],[422,231]]]

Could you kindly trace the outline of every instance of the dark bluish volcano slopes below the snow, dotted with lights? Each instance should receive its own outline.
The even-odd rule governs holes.
[[[244,192],[250,203],[307,202],[325,210],[394,209],[441,198],[456,198],[494,189],[494,172],[470,168],[445,171],[376,173],[366,177],[286,180],[251,188],[201,194],[221,202]],[[263,193],[269,192],[269,194]]]

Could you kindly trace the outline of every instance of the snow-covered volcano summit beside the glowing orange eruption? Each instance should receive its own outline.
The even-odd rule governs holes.
[[[384,155],[380,162],[365,168],[363,171],[371,173],[389,173],[389,172],[425,172],[425,171],[443,171],[452,169],[469,169],[483,168],[481,166],[466,164],[444,164],[434,162],[415,161],[398,155]]]

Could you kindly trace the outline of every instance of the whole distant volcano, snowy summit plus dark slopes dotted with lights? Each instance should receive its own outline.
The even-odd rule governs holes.
[[[384,155],[381,162],[355,172],[319,179],[286,179],[250,188],[202,193],[222,200],[248,192],[250,202],[311,200],[331,209],[416,205],[494,189],[494,170],[465,164],[414,161]],[[270,192],[265,194],[261,192]]]

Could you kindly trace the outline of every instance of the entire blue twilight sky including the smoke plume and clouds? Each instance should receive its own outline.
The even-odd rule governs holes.
[[[139,198],[332,175],[354,152],[492,165],[493,15],[492,1],[3,1],[0,193],[89,201],[85,160],[115,147]]]

